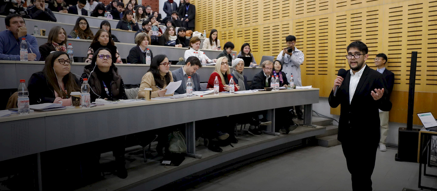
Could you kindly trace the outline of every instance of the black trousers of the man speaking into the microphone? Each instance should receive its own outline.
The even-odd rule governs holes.
[[[371,176],[375,168],[376,150],[378,141],[374,143],[356,143],[358,141],[343,141],[344,157],[346,157],[347,170],[352,175],[352,190],[371,191]]]

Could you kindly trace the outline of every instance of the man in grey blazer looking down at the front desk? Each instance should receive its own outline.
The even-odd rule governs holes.
[[[179,69],[171,71],[173,74],[173,82],[182,80],[182,85],[175,91],[175,94],[184,94],[187,92],[187,80],[188,76],[191,76],[193,81],[193,91],[206,91],[208,89],[201,89],[200,76],[196,74],[196,71],[202,67],[199,58],[190,56],[185,61],[185,65]]]

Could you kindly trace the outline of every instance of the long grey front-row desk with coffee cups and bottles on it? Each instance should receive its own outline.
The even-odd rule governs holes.
[[[295,105],[305,105],[304,118],[310,124],[311,104],[317,102],[319,89],[292,89],[12,114],[0,118],[0,161],[166,126]],[[194,133],[194,126],[191,131]],[[194,143],[194,137],[187,138],[189,144]]]

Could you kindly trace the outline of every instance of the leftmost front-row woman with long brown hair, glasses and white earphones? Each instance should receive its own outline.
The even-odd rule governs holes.
[[[71,92],[80,91],[80,83],[70,72],[72,61],[64,51],[55,51],[45,59],[42,72],[36,72],[29,79],[30,105],[56,103],[71,106]]]

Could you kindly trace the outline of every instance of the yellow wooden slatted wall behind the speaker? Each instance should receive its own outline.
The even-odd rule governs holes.
[[[192,1],[193,2],[193,1]],[[196,0],[196,30],[217,29],[222,44],[232,41],[238,52],[250,43],[257,62],[277,56],[285,37],[295,35],[305,54],[302,84],[320,88],[327,97],[340,68],[348,69],[346,47],[360,40],[368,45],[366,64],[384,52],[395,73],[391,121],[405,123],[411,51],[418,51],[416,93],[430,92],[416,111],[437,112],[437,0]],[[259,63],[258,63],[259,64]],[[395,104],[396,103],[396,104]],[[432,107],[432,106],[434,107]],[[332,113],[339,114],[338,109]],[[405,113],[405,115],[403,114]],[[415,123],[418,123],[415,119]]]

